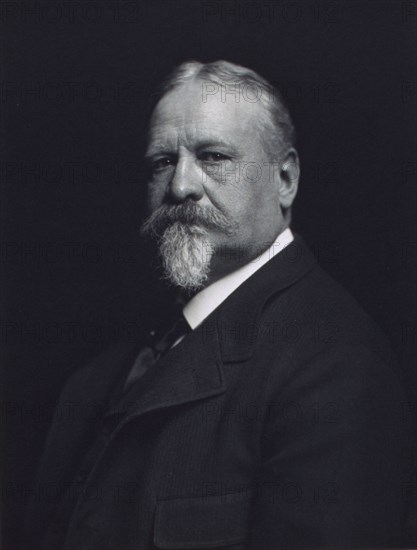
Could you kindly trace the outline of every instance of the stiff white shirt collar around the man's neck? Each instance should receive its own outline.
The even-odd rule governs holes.
[[[194,330],[206,317],[210,315],[226,298],[234,292],[246,279],[258,271],[264,264],[279,254],[286,246],[294,240],[290,228],[284,229],[278,235],[271,246],[262,252],[260,256],[229,273],[222,279],[212,283],[193,296],[184,306],[183,314],[191,329]]]

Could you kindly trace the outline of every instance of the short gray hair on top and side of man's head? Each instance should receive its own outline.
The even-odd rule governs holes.
[[[265,113],[265,116],[261,116],[260,122],[262,129],[267,128],[270,132],[268,136],[265,136],[267,138],[265,141],[273,156],[295,146],[295,128],[280,92],[255,71],[229,61],[218,60],[211,63],[186,61],[181,63],[166,78],[157,94],[153,96],[153,107],[165,94],[195,79],[220,87],[224,94],[233,93],[233,88],[235,91],[238,89],[239,94],[243,94],[243,99],[250,103],[259,101],[264,107]],[[229,90],[227,90],[228,86]],[[256,97],[250,95],[249,90],[253,89],[256,91]],[[207,93],[207,95],[211,94]],[[276,145],[278,145],[278,151]]]

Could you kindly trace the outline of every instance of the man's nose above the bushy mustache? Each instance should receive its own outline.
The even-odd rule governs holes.
[[[204,195],[203,175],[191,156],[180,156],[169,184],[169,197],[182,203],[187,199],[199,201]]]

